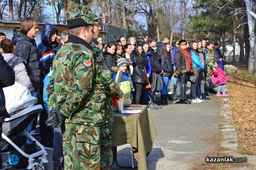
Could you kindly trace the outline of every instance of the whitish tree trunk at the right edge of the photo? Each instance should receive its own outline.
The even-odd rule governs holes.
[[[249,55],[249,63],[248,63],[248,71],[253,72],[253,75],[256,75],[256,48],[255,48],[255,19],[256,14],[252,11],[250,11],[250,7],[253,5],[250,5],[249,0],[245,0],[246,3],[246,9],[247,9],[247,18],[248,18],[248,27],[249,27],[249,34],[250,34],[250,55]]]

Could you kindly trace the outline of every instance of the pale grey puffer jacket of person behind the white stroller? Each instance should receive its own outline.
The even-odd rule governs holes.
[[[29,79],[25,65],[26,60],[22,57],[16,57],[14,54],[3,54],[3,58],[13,68],[15,72],[15,82],[19,82],[29,89],[30,94],[34,94],[32,82]]]

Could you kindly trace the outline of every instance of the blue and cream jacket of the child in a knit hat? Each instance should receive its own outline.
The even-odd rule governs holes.
[[[117,71],[119,71],[119,68],[113,67],[112,68],[112,77],[115,80],[117,76]],[[130,105],[132,101],[132,94],[131,89],[133,88],[133,84],[131,82],[131,77],[127,72],[122,72],[122,77],[120,79],[120,84],[123,85],[123,103]]]

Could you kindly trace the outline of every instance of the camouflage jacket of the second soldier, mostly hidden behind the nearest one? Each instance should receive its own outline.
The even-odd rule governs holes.
[[[111,76],[111,71],[108,70],[108,68],[107,68],[107,63],[105,61],[105,57],[104,57],[101,49],[99,48],[99,46],[96,45],[94,42],[95,42],[95,40],[93,40],[93,43],[91,44],[91,46],[93,47],[93,49],[95,51],[95,58],[99,64],[99,67],[101,68],[101,71],[102,71],[102,78],[103,78],[102,84],[104,85],[105,94],[106,94],[107,120],[109,123],[113,123],[113,99],[112,99],[112,96],[119,98],[123,95],[123,92],[116,85],[116,82],[113,81],[112,76]]]

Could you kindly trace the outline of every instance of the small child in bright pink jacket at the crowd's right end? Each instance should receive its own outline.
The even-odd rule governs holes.
[[[218,67],[218,61],[213,61],[213,65],[216,69],[216,71],[212,70],[211,72],[211,80],[213,84],[218,82],[218,92],[216,96],[228,96],[227,93],[225,93],[225,83],[229,80],[229,78],[225,75],[224,71]],[[221,94],[221,88],[222,88],[222,94]]]

